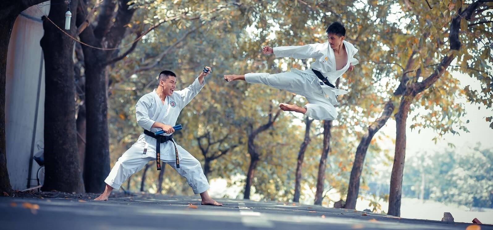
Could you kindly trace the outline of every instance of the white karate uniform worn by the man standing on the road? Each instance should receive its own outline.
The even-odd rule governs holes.
[[[205,80],[204,80],[205,81]],[[203,82],[205,84],[205,82]],[[177,90],[167,96],[164,105],[156,93],[156,89],[139,99],[135,105],[137,123],[144,129],[157,132],[161,129],[151,128],[154,122],[175,126],[176,119],[185,107],[202,89],[198,78],[188,87]],[[164,133],[163,136],[169,136]],[[176,144],[180,168],[176,168],[175,145],[171,141],[160,145],[161,161],[168,163],[176,172],[185,177],[195,194],[209,189],[209,182],[202,170],[200,162],[187,150]],[[119,189],[121,184],[133,173],[139,172],[149,161],[156,160],[156,139],[141,133],[139,140],[118,158],[115,166],[106,177],[106,184]]]

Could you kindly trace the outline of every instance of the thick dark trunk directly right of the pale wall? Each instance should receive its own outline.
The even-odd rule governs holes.
[[[71,4],[71,12],[75,12],[77,0],[72,0]],[[59,27],[64,28],[66,11],[66,4],[53,4],[48,17]],[[75,36],[75,20],[71,22],[70,31],[67,32]],[[44,104],[46,174],[42,190],[83,192],[75,127],[72,60],[74,41],[46,19],[43,28],[41,48],[46,63]]]

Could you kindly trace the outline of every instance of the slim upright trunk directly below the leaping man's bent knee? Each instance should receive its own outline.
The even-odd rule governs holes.
[[[331,120],[323,121],[323,148],[320,156],[320,164],[318,165],[317,175],[317,191],[315,192],[315,204],[322,205],[323,182],[325,180],[325,165],[327,155],[330,151],[330,129],[332,128]]]

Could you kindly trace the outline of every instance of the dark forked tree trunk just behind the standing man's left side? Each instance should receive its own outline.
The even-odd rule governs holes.
[[[98,15],[97,26],[90,24],[80,33],[80,39],[95,47],[117,47],[132,19],[135,8],[129,8],[129,0],[104,0]],[[115,6],[117,5],[117,8]],[[86,6],[79,4],[77,14],[84,19]],[[116,13],[114,12],[116,9]],[[77,20],[82,25],[84,20]],[[101,50],[83,46],[85,63],[86,105],[86,156],[84,182],[87,192],[101,193],[105,190],[105,178],[109,173],[109,142],[107,125],[107,65],[115,50]],[[88,58],[90,57],[90,58]]]

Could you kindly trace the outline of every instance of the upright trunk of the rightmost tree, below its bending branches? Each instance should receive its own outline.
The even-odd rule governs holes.
[[[404,94],[399,105],[399,112],[395,115],[395,156],[390,176],[390,191],[388,197],[388,215],[400,216],[402,174],[404,172],[404,158],[406,156],[406,119],[411,107],[412,96]]]

